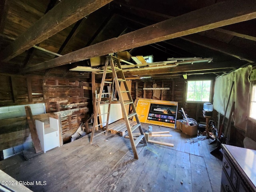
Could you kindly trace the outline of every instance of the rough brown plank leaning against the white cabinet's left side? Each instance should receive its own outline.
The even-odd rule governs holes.
[[[38,134],[36,131],[36,124],[33,119],[32,111],[30,109],[30,106],[25,106],[27,120],[28,120],[28,126],[31,133],[32,141],[34,143],[34,147],[36,150],[36,153],[39,153],[42,151],[40,140],[38,138]]]

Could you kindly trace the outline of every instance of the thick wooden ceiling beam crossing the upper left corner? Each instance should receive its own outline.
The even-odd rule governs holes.
[[[2,61],[8,61],[33,45],[60,32],[84,16],[108,4],[112,0],[62,0],[40,18],[24,34],[6,47],[1,53]]]

